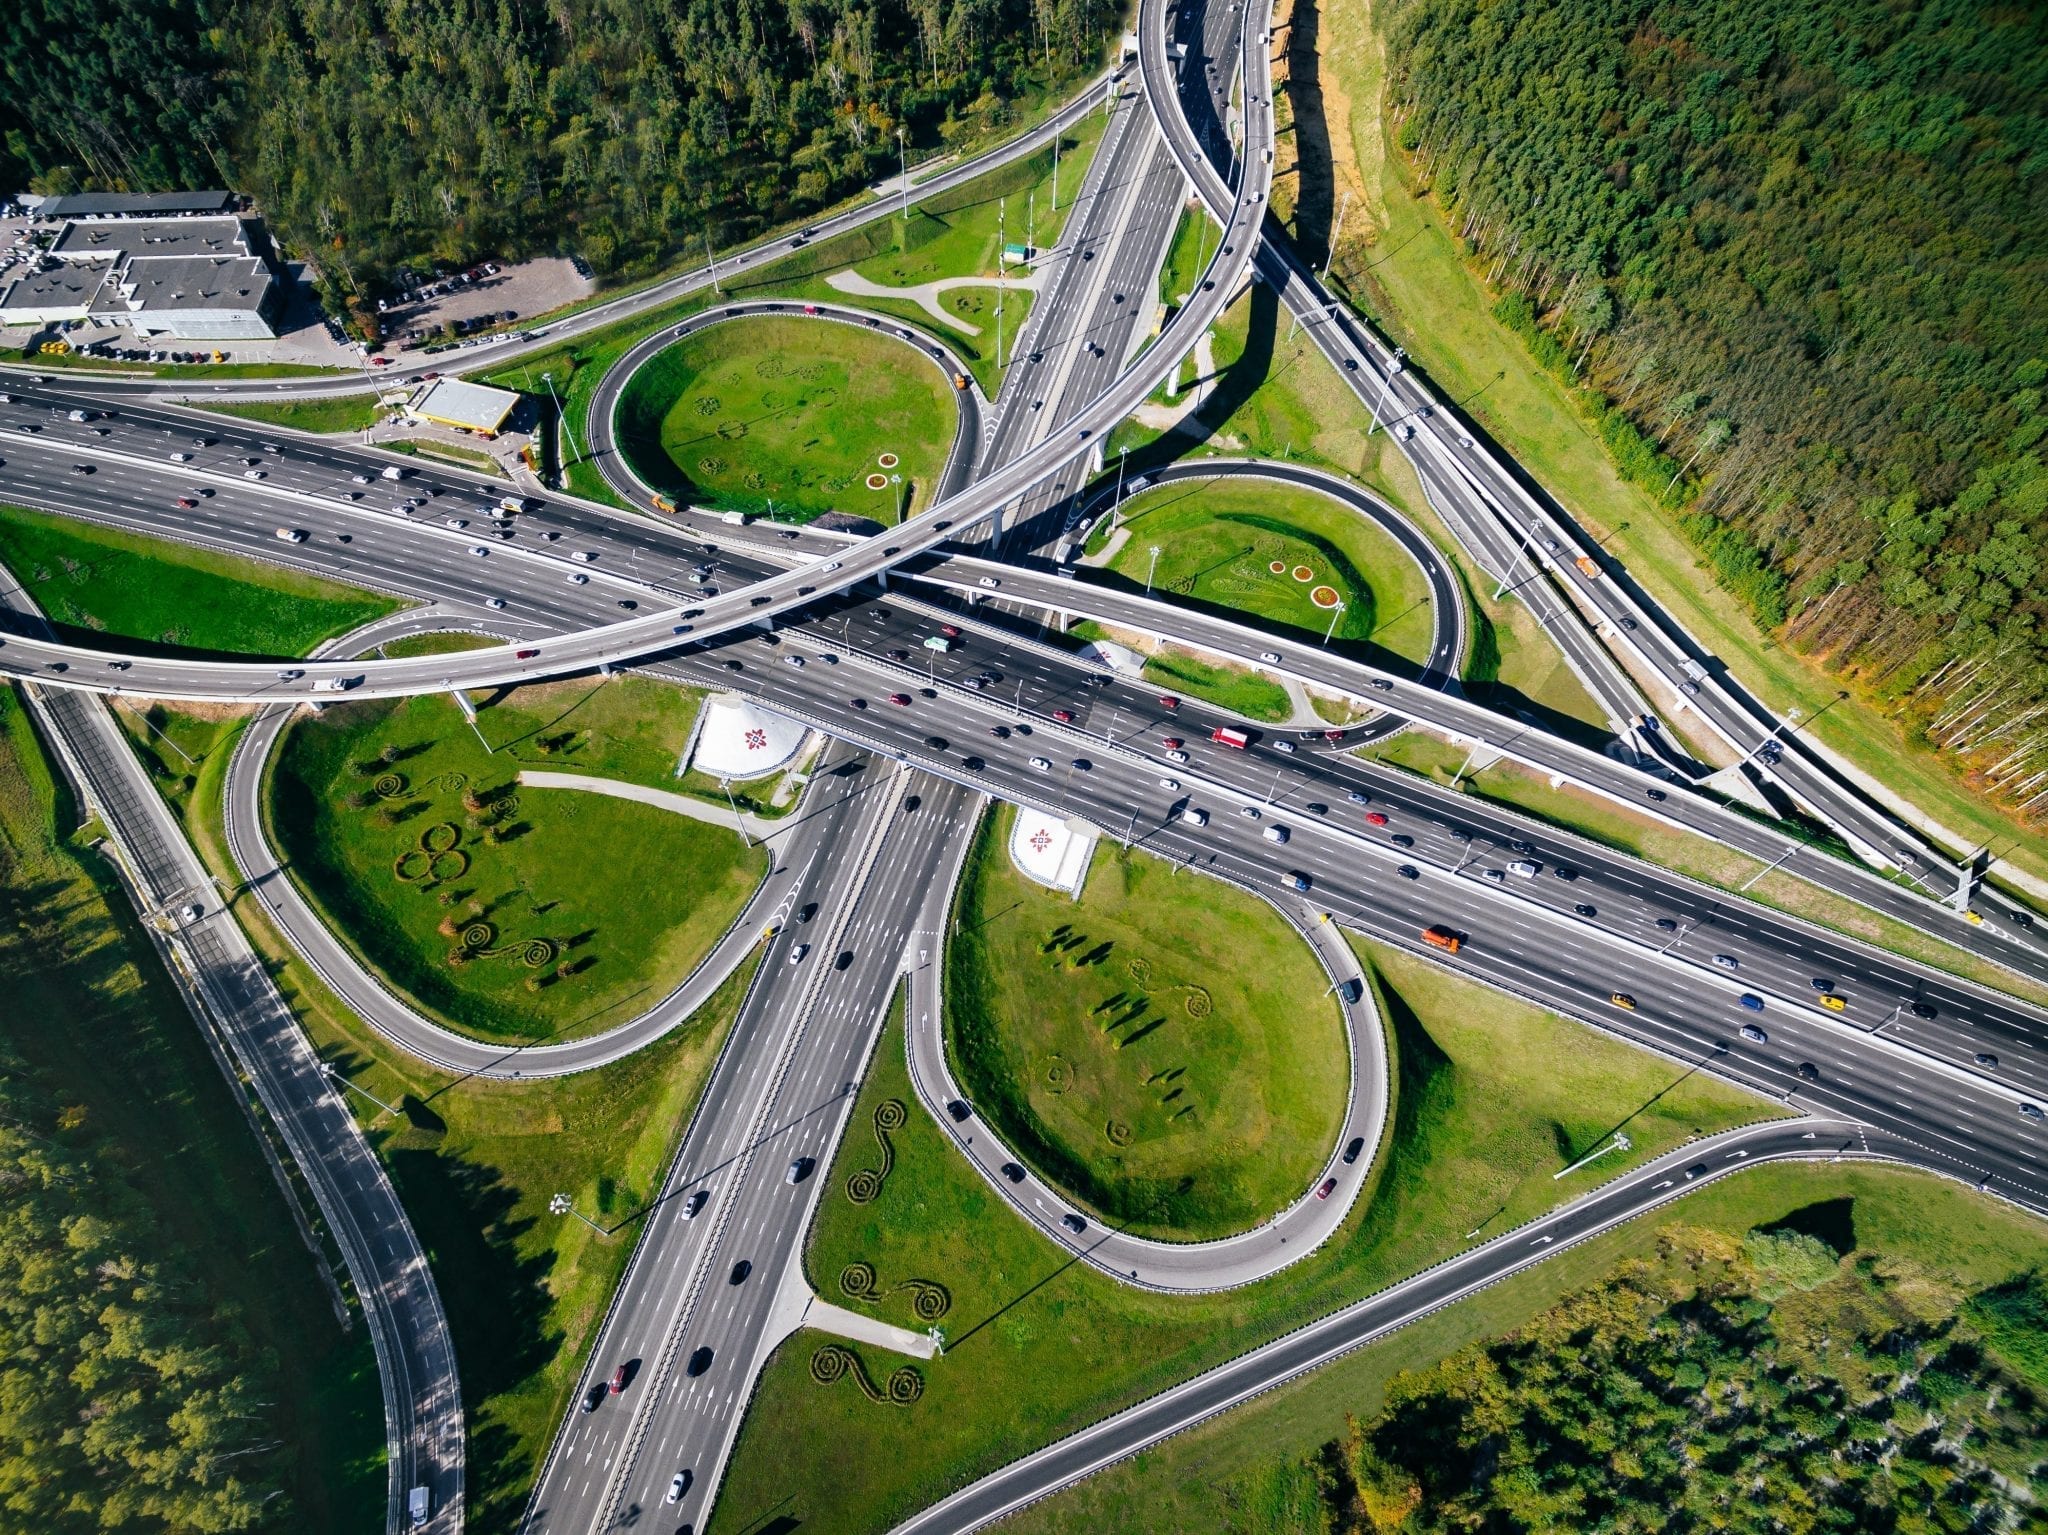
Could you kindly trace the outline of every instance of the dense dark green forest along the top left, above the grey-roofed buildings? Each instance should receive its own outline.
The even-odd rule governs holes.
[[[29,0],[0,188],[254,192],[369,282],[803,217],[1100,63],[1114,0]]]

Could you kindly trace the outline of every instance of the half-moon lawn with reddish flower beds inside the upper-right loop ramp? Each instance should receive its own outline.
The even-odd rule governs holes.
[[[1382,661],[1430,657],[1436,614],[1415,561],[1327,495],[1243,479],[1176,481],[1128,497],[1122,524],[1108,569],[1130,587],[1151,575],[1153,591],[1352,641]]]

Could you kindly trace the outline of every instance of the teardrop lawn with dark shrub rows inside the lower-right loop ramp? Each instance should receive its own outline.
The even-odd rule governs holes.
[[[1329,980],[1262,901],[1112,843],[1081,898],[983,817],[946,946],[946,1050],[979,1113],[1098,1218],[1208,1240],[1300,1197],[1343,1122]]]

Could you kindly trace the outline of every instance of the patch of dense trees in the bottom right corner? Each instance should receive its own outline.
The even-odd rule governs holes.
[[[1962,1302],[1810,1232],[1681,1230],[1305,1470],[1343,1535],[2042,1529],[2044,1322],[2038,1275]]]

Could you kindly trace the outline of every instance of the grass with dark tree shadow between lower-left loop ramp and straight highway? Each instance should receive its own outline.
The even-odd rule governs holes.
[[[240,720],[223,727],[186,800],[193,843],[227,888],[242,878],[221,823],[240,731]],[[631,765],[633,755],[618,761]],[[508,1533],[631,1257],[633,1218],[659,1193],[758,962],[741,966],[664,1040],[614,1066],[506,1083],[440,1072],[393,1050],[299,960],[260,901],[240,892],[229,911],[319,1054],[403,1109],[401,1120],[391,1120],[369,1099],[348,1095],[391,1169],[455,1330],[469,1412],[471,1521]],[[598,1224],[618,1226],[616,1236],[606,1240],[573,1216],[551,1216],[547,1201],[557,1191]],[[375,1361],[367,1367],[375,1371]],[[367,1390],[375,1412],[375,1373]],[[383,1506],[381,1427],[373,1424],[373,1433],[371,1523]],[[319,1527],[350,1525],[362,1519]]]

